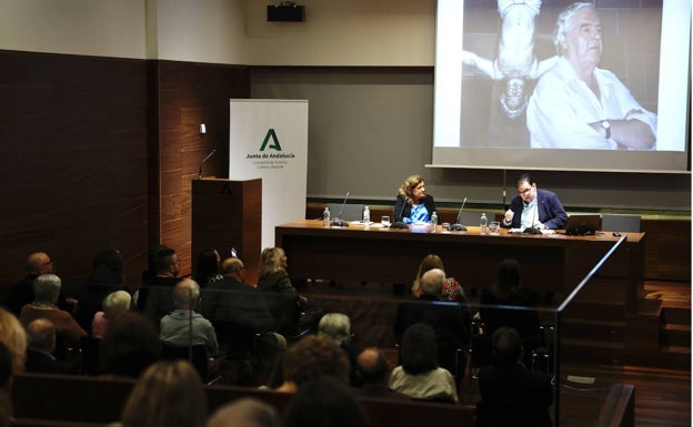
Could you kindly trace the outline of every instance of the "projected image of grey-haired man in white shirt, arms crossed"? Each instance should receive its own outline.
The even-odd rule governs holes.
[[[536,83],[526,111],[531,146],[654,150],[656,114],[600,69],[602,21],[592,3],[565,8],[553,42],[560,57]]]

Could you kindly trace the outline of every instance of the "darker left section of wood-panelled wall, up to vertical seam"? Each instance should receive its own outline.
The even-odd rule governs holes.
[[[0,278],[48,252],[63,279],[117,247],[133,281],[147,233],[144,61],[0,51]]]

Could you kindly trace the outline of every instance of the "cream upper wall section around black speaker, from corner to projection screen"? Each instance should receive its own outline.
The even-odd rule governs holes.
[[[247,0],[252,65],[413,65],[434,60],[434,0],[305,0],[304,22],[267,22]]]

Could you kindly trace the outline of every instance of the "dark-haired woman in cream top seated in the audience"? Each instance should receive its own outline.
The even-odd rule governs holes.
[[[406,328],[400,365],[392,369],[389,386],[414,399],[458,401],[454,377],[438,364],[438,343],[431,326],[415,323]]]

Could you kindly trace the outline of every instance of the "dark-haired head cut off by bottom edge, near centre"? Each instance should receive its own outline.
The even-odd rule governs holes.
[[[304,384],[282,414],[283,427],[368,427],[365,410],[343,383],[321,377]]]

